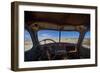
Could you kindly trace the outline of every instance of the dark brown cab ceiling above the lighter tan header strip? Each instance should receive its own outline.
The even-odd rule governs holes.
[[[25,24],[31,25],[34,22],[49,22],[63,26],[84,25],[90,28],[90,14],[25,11]]]

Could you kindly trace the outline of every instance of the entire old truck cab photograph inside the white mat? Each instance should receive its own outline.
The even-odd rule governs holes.
[[[89,14],[25,11],[24,16],[24,61],[90,58]]]

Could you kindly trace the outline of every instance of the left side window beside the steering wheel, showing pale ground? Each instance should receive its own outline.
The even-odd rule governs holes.
[[[33,42],[30,33],[25,29],[24,31],[24,49],[25,51],[31,50],[33,47]]]

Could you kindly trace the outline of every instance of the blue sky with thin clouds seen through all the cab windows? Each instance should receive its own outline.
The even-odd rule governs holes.
[[[31,40],[29,32],[25,30],[25,40]],[[62,31],[61,32],[62,38],[78,38],[79,32],[76,31]],[[54,30],[41,30],[38,31],[38,38],[39,40],[46,39],[46,38],[59,38],[59,32]],[[90,32],[87,32],[85,38],[90,38]]]

